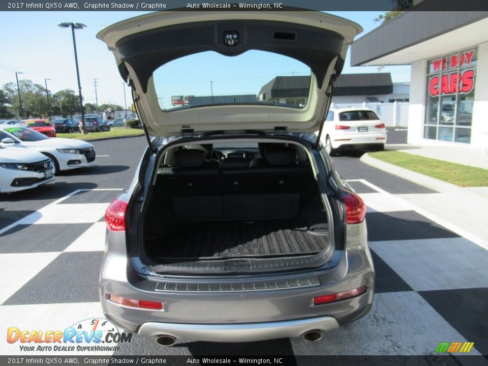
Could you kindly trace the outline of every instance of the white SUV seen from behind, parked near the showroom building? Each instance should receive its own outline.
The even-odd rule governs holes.
[[[383,150],[386,127],[369,108],[329,109],[320,139],[330,156],[352,148]]]

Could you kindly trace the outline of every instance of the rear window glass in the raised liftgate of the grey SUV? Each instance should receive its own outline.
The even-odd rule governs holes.
[[[160,108],[212,104],[270,104],[302,108],[310,93],[310,68],[267,51],[236,56],[205,51],[159,67],[153,82]]]

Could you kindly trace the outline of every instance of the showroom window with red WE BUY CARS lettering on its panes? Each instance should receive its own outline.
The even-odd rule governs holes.
[[[423,137],[471,142],[477,49],[429,61]]]

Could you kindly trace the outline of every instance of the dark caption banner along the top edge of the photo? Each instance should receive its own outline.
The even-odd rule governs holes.
[[[0,11],[488,11],[486,0],[25,0],[0,3]]]

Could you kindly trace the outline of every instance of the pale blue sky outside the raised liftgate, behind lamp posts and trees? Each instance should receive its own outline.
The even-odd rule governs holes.
[[[331,12],[355,21],[370,32],[379,23],[373,19],[381,12]],[[0,86],[15,82],[15,71],[19,79],[29,79],[44,85],[44,79],[51,92],[71,88],[77,93],[71,29],[60,28],[61,22],[80,22],[86,28],[76,30],[76,44],[80,68],[81,87],[84,101],[95,103],[94,79],[97,78],[99,104],[111,102],[124,105],[124,86],[118,74],[112,53],[95,36],[102,26],[113,24],[146,12],[0,12]],[[361,36],[359,35],[359,37]],[[378,72],[376,67],[349,66],[346,59],[344,73]],[[393,82],[410,81],[409,66],[385,67]],[[126,87],[128,104],[129,88]]]

